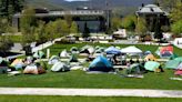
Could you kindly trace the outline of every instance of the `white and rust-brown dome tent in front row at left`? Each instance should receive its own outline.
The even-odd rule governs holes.
[[[40,64],[30,64],[27,65],[23,70],[24,74],[42,74],[46,73],[46,70]]]

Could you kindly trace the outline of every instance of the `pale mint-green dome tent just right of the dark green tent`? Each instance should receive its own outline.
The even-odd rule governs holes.
[[[145,70],[149,71],[155,71],[156,69],[159,69],[160,63],[159,62],[154,62],[154,61],[148,61],[144,64]]]

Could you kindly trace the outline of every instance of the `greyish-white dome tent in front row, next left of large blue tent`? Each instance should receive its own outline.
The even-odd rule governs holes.
[[[51,71],[53,71],[53,72],[69,71],[69,70],[70,70],[70,68],[62,62],[57,62],[51,68]]]

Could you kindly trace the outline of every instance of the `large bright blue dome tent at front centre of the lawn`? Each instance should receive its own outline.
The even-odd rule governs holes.
[[[112,63],[104,57],[95,58],[89,65],[89,71],[103,71],[109,72],[113,70]]]

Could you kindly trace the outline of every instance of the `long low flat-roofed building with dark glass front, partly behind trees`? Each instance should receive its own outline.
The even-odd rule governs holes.
[[[78,8],[75,10],[47,10],[36,9],[36,18],[46,22],[55,19],[63,19],[65,16],[71,16],[77,22],[79,30],[82,32],[87,23],[90,32],[103,32],[110,26],[111,10],[97,10],[89,8]],[[21,13],[16,13],[12,18],[12,26],[20,28]]]

